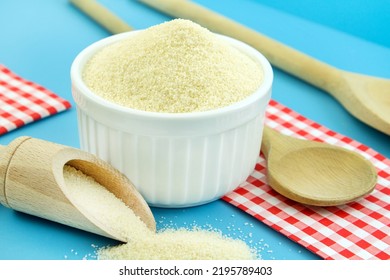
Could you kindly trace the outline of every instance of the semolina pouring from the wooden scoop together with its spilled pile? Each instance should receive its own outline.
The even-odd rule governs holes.
[[[152,232],[120,199],[81,171],[65,165],[64,180],[72,198],[93,212],[99,222],[126,237],[127,243],[101,248],[105,260],[239,260],[255,259],[241,240],[202,229],[166,229]],[[93,210],[92,210],[93,209]]]

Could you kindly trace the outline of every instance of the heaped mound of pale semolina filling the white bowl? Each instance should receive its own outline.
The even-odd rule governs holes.
[[[216,34],[171,20],[106,46],[83,80],[97,95],[133,109],[187,113],[225,107],[254,93],[261,65]]]

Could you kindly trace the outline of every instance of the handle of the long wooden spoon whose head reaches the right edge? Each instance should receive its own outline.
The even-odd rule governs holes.
[[[214,32],[243,41],[260,51],[274,66],[323,90],[328,90],[339,77],[338,69],[191,1],[138,1],[173,17],[192,20]]]

